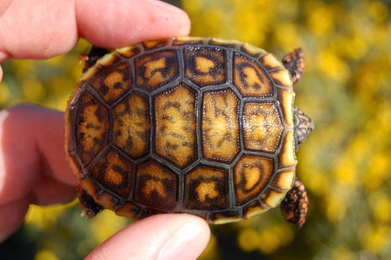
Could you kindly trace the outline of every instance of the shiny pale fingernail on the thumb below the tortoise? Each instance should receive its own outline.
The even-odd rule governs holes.
[[[190,259],[193,256],[190,248],[197,243],[195,239],[201,228],[196,223],[188,222],[176,231],[162,247],[158,260]],[[192,245],[190,246],[190,243]]]

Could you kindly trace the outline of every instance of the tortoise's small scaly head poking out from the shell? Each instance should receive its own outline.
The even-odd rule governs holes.
[[[298,107],[294,107],[293,122],[295,124],[295,150],[297,151],[299,146],[307,139],[310,132],[314,130],[314,124],[311,118],[304,114],[303,110]]]

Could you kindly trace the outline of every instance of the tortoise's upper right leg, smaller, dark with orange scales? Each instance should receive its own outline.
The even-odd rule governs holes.
[[[293,84],[302,77],[304,73],[304,62],[304,50],[302,48],[295,49],[282,58],[282,64],[292,75]]]

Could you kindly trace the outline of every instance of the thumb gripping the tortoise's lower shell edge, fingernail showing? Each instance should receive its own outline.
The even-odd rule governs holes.
[[[117,232],[86,259],[196,259],[209,237],[209,226],[200,217],[159,214]]]

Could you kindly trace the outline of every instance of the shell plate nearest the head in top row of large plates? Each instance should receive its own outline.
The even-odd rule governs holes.
[[[274,84],[267,72],[255,61],[234,52],[233,83],[245,97],[271,97]]]

